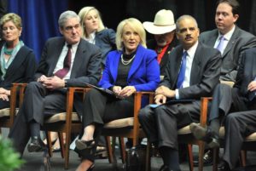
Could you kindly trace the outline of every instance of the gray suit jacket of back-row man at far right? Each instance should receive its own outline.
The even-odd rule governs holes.
[[[217,37],[218,29],[214,29],[212,31],[202,32],[200,35],[200,41],[201,43],[205,43],[208,46],[213,47]],[[241,60],[241,55],[245,49],[252,47],[256,47],[256,37],[236,26],[235,31],[222,55],[220,80],[236,81],[236,74],[238,64]]]

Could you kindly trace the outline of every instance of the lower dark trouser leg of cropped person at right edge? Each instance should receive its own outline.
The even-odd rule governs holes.
[[[239,111],[230,113],[224,123],[225,144],[224,161],[230,168],[236,167],[241,145],[249,134],[256,132],[256,111]]]

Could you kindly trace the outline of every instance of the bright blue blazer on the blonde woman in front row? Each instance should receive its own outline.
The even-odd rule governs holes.
[[[110,88],[115,85],[121,51],[112,51],[108,54],[106,67],[102,74],[99,86]],[[134,86],[137,91],[154,91],[160,83],[160,67],[153,50],[139,45],[131,69],[128,73],[127,83]]]

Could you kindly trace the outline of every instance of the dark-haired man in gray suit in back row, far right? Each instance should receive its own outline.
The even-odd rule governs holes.
[[[256,37],[236,26],[238,8],[236,0],[219,0],[215,14],[217,28],[202,32],[199,38],[201,43],[218,48],[221,52],[220,80],[224,81],[235,82],[241,55],[245,49],[256,47]]]

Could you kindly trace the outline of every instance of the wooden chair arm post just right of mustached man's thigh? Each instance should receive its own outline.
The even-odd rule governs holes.
[[[202,127],[207,126],[208,102],[210,100],[212,100],[212,97],[202,97],[201,98],[200,124],[201,124]]]

